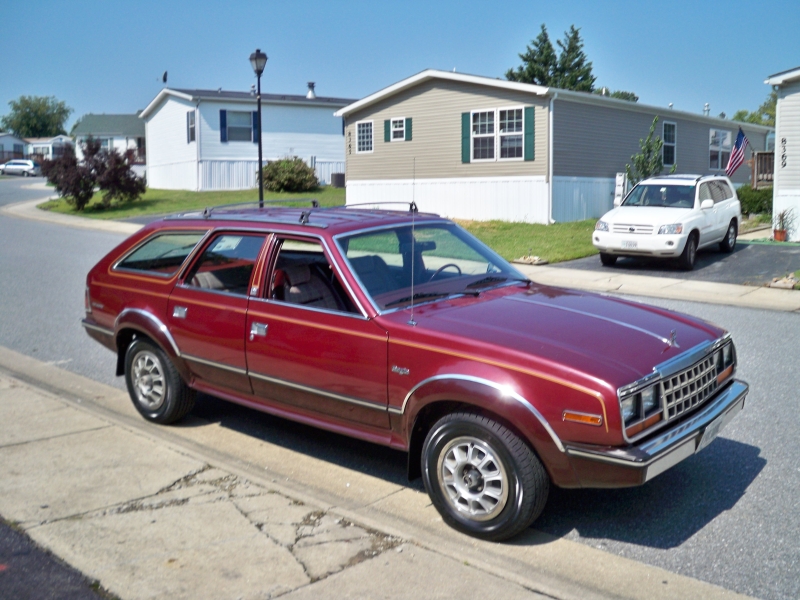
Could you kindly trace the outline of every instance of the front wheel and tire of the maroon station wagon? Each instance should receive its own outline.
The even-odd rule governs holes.
[[[449,414],[428,432],[422,480],[448,525],[489,541],[530,527],[550,491],[550,479],[533,450],[508,428],[471,412]]]

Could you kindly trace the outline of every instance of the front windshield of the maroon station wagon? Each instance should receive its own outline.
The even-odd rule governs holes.
[[[398,225],[337,239],[375,305],[404,308],[527,278],[454,223]],[[412,294],[413,272],[413,294]]]

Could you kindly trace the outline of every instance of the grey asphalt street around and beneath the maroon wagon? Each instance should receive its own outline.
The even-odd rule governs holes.
[[[0,181],[0,190],[7,183]],[[0,215],[0,345],[122,388],[113,375],[113,354],[79,324],[86,272],[121,239]],[[751,385],[745,410],[702,453],[645,486],[554,491],[536,528],[744,594],[800,597],[800,315],[648,302],[732,331],[739,376]],[[405,455],[396,451],[210,397],[200,399],[195,414],[355,471],[405,482]]]

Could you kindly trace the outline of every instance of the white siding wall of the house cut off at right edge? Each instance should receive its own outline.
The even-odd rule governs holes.
[[[800,83],[778,92],[775,131],[775,193],[772,214],[794,211],[789,240],[800,242]]]

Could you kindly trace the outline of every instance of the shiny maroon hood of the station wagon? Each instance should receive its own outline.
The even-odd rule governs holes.
[[[494,361],[582,373],[613,387],[724,334],[680,313],[536,284],[420,306],[414,319],[420,333],[437,332]]]

